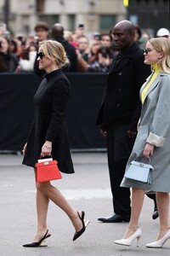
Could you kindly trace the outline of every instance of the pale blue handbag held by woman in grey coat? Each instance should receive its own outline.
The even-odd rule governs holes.
[[[152,171],[154,168],[150,165],[150,158],[148,159],[149,164],[139,162],[139,158],[136,158],[130,163],[124,177],[139,181],[141,183],[151,184]]]

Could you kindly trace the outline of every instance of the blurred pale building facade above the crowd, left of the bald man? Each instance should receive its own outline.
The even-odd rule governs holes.
[[[6,20],[14,34],[34,33],[37,21],[49,27],[61,23],[74,31],[84,24],[87,33],[109,32],[116,22],[126,19],[122,0],[0,0],[0,22]]]

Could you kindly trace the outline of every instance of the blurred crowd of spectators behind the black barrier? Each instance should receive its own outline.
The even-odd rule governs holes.
[[[161,28],[157,36],[162,36],[162,33],[168,35],[168,30]],[[71,32],[59,23],[49,27],[46,22],[39,21],[35,26],[35,34],[28,37],[24,34],[14,36],[6,28],[0,29],[0,72],[35,72],[42,75],[43,72],[37,68],[36,54],[39,42],[47,39],[63,44],[71,62],[64,72],[107,73],[117,54],[111,31],[94,32],[89,38],[82,24]],[[141,28],[135,26],[135,41],[140,48],[144,49],[148,39],[150,35],[142,33]]]

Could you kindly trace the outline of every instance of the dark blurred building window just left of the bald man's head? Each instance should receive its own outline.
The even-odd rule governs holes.
[[[100,15],[99,29],[108,32],[116,23],[116,15]]]

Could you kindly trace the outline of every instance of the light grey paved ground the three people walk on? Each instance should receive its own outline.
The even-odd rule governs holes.
[[[113,243],[121,239],[127,224],[102,224],[97,218],[110,216],[111,191],[105,153],[72,153],[76,174],[64,175],[54,181],[68,198],[72,207],[84,210],[91,223],[77,241],[71,222],[64,212],[49,206],[48,229],[52,236],[48,247],[24,248],[36,230],[35,183],[30,167],[22,166],[22,156],[0,154],[0,256],[133,256],[169,255],[170,241],[162,249],[149,249],[144,245],[154,241],[158,219],[151,219],[153,203],[145,198],[140,227],[143,236],[132,247]]]

